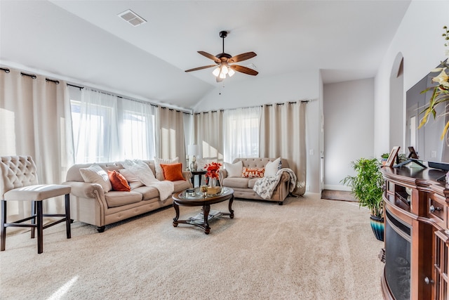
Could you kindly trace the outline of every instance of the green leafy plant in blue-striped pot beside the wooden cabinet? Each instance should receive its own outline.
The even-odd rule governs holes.
[[[360,207],[370,210],[370,223],[377,240],[384,240],[383,200],[384,178],[380,172],[380,162],[376,158],[361,158],[351,162],[355,176],[347,176],[342,183],[351,187]]]

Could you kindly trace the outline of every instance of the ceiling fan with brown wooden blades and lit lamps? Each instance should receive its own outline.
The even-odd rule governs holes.
[[[215,61],[215,65],[205,65],[203,67],[195,67],[193,69],[185,70],[185,72],[192,72],[192,71],[198,71],[207,69],[208,67],[216,67],[215,70],[213,70],[213,74],[215,75],[217,82],[223,81],[223,79],[226,78],[226,75],[231,77],[234,75],[234,71],[245,73],[248,75],[257,75],[259,72],[250,69],[249,67],[243,67],[242,65],[231,65],[232,63],[238,63],[243,60],[248,60],[250,58],[253,58],[257,56],[254,52],[246,52],[241,53],[238,56],[230,56],[228,53],[225,53],[225,37],[227,37],[227,31],[220,31],[220,37],[223,39],[223,51],[222,53],[217,54],[216,56],[213,56],[212,54],[209,54],[204,51],[198,51],[202,56],[206,56],[206,58],[209,58],[213,61]]]

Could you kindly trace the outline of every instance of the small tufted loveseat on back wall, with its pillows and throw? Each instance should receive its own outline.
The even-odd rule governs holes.
[[[241,170],[239,172],[239,166],[241,164]],[[268,169],[267,164],[269,164]],[[220,185],[232,188],[234,190],[234,197],[253,200],[267,200],[278,202],[279,205],[283,204],[283,200],[289,195],[289,193],[295,188],[296,176],[293,171],[288,169],[288,162],[286,159],[275,158],[261,158],[261,157],[248,157],[248,158],[236,158],[231,164],[224,164],[224,169],[219,170]],[[272,191],[272,196],[269,198],[261,197],[253,190],[256,182],[264,177],[264,174],[258,174],[259,170],[263,172],[271,169],[271,174],[266,174],[274,178],[274,174],[277,174],[276,185]],[[265,171],[267,169],[267,171]],[[253,174],[249,174],[253,172]],[[243,174],[246,172],[246,175]],[[234,174],[232,174],[234,173]],[[259,177],[261,176],[261,177]],[[279,180],[279,182],[278,182]]]

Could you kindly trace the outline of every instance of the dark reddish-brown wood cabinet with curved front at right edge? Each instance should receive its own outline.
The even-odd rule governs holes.
[[[382,174],[384,299],[448,299],[449,185],[445,172],[384,167]]]

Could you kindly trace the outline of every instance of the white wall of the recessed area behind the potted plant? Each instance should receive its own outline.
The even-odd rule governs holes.
[[[354,175],[351,162],[374,157],[374,79],[323,86],[324,188],[350,190],[340,181]]]

